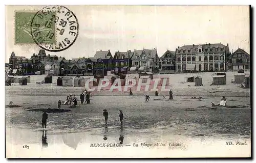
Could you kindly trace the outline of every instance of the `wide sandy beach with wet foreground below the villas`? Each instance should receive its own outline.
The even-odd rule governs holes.
[[[42,112],[31,110],[57,108],[58,99],[65,100],[69,93],[79,98],[84,88],[57,87],[55,83],[35,85],[34,81],[28,86],[8,86],[6,105],[13,101],[17,107],[6,107],[7,157],[249,156],[250,89],[237,88],[238,84],[231,83],[191,85],[190,89],[187,85],[172,84],[171,101],[162,96],[168,92],[154,96],[154,91],[134,90],[134,96],[129,96],[127,92],[101,90],[93,92],[90,104],[78,101],[75,108],[62,105],[61,108],[71,111],[48,113],[47,148],[43,148],[41,139]],[[149,102],[144,101],[144,94],[150,94]],[[229,107],[211,110],[211,102],[219,102],[222,95],[226,96]],[[105,108],[109,112],[107,129],[102,116]],[[118,117],[120,109],[124,113],[123,127]],[[123,144],[111,147],[120,143],[121,136]],[[108,139],[103,140],[104,137]],[[235,148],[226,145],[229,141]],[[246,145],[240,145],[243,142]],[[97,143],[111,145],[91,147]],[[29,149],[24,149],[24,145],[29,145]]]

